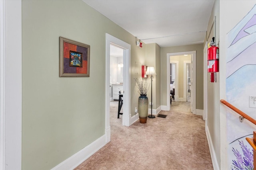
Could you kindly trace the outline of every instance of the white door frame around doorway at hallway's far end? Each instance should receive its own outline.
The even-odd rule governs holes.
[[[167,69],[166,69],[166,80],[167,80],[167,88],[166,88],[166,94],[168,92],[170,93],[170,56],[176,56],[176,55],[191,55],[191,69],[193,69],[193,75],[191,75],[191,87],[193,90],[192,98],[191,98],[191,104],[192,104],[192,110],[191,112],[193,114],[196,114],[196,51],[186,51],[186,52],[178,52],[178,53],[167,53],[166,55],[166,61],[167,61]],[[177,81],[176,81],[177,82]],[[175,82],[175,93],[176,93],[176,82]],[[167,108],[170,106],[170,96],[167,95]]]

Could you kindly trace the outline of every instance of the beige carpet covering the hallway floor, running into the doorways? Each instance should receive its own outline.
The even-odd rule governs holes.
[[[205,122],[189,113],[189,102],[172,102],[160,112],[166,118],[130,127],[117,119],[117,106],[110,102],[111,141],[75,170],[213,170]]]

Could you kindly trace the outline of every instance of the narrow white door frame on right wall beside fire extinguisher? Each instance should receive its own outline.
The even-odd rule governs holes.
[[[208,49],[208,42],[206,41],[204,46],[204,111],[203,111],[203,120],[205,120],[205,125],[207,125],[207,92],[208,92],[208,80],[207,80],[207,49]]]

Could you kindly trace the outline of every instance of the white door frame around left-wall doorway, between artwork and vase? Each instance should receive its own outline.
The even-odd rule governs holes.
[[[123,104],[123,115],[122,115],[122,125],[130,126],[130,51],[131,45],[106,33],[106,119],[105,119],[105,132],[107,135],[107,142],[110,141],[110,44],[117,46],[123,49],[123,63],[124,63],[124,81],[123,81],[123,88],[124,88],[124,104]],[[117,116],[117,113],[116,113]]]

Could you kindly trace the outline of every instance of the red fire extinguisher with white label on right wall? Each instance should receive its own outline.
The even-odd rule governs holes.
[[[219,47],[216,47],[214,37],[208,48],[207,68],[208,72],[219,72]]]

